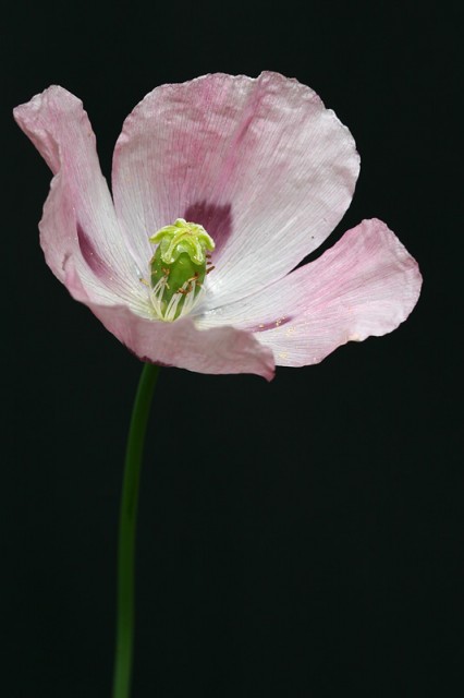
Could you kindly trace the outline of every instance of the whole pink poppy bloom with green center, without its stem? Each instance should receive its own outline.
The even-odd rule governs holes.
[[[76,97],[51,86],[14,117],[53,173],[47,264],[144,361],[270,380],[391,332],[417,302],[418,266],[381,220],[295,269],[359,170],[350,131],[296,80],[157,87],[124,122],[112,197]]]

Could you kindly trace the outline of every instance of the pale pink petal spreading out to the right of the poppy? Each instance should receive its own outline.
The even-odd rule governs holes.
[[[363,220],[315,262],[260,293],[206,313],[200,327],[251,329],[278,365],[321,361],[347,341],[392,332],[415,306],[416,261],[378,219]]]

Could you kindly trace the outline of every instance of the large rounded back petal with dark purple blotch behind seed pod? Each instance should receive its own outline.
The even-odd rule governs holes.
[[[113,195],[137,231],[139,264],[148,236],[178,217],[208,230],[217,251],[204,306],[215,308],[282,278],[321,244],[358,170],[350,131],[309,87],[271,72],[219,73],[157,87],[133,110]]]

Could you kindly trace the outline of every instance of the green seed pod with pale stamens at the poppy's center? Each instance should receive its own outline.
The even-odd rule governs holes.
[[[149,240],[158,243],[150,260],[151,303],[160,320],[172,322],[198,301],[205,277],[213,269],[207,250],[213,250],[215,242],[203,226],[183,218]]]

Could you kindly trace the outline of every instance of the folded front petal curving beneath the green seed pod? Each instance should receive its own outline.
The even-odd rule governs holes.
[[[86,298],[72,262],[66,286],[105,327],[143,361],[198,373],[255,373],[271,381],[276,364],[270,349],[253,333],[231,326],[198,329],[191,317],[174,323],[146,320],[124,305],[100,305]]]

